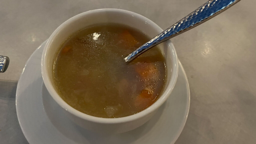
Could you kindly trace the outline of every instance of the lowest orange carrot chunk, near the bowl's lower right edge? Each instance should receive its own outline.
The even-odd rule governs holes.
[[[138,95],[134,100],[135,107],[147,107],[153,104],[153,91],[150,88],[142,90],[141,94]]]

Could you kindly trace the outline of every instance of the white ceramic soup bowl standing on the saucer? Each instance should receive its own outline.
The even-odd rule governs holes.
[[[122,9],[96,9],[78,14],[61,24],[50,36],[44,47],[41,71],[44,84],[52,98],[60,105],[79,126],[88,130],[108,133],[122,133],[133,130],[147,122],[157,109],[170,96],[178,76],[178,58],[170,40],[160,45],[165,56],[167,81],[163,94],[147,109],[137,114],[121,118],[100,118],[84,114],[68,105],[57,93],[53,80],[53,64],[61,44],[73,33],[99,23],[117,23],[139,29],[149,37],[154,37],[163,30],[150,19],[134,12]]]

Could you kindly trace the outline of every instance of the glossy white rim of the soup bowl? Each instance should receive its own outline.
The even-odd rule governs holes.
[[[140,119],[148,114],[150,114],[151,112],[155,111],[157,108],[159,108],[169,97],[169,95],[171,94],[176,81],[177,81],[177,77],[178,77],[178,58],[177,58],[177,54],[176,54],[176,50],[174,48],[173,43],[170,40],[167,40],[165,43],[168,44],[168,48],[172,49],[173,55],[172,55],[172,75],[170,78],[170,82],[167,84],[168,86],[170,86],[170,88],[166,88],[166,94],[165,95],[161,95],[158,100],[156,102],[154,102],[151,106],[149,106],[148,108],[130,115],[130,116],[125,116],[125,117],[120,117],[120,118],[101,118],[101,117],[95,117],[95,116],[91,116],[85,113],[82,113],[76,109],[74,109],[73,107],[71,107],[70,105],[68,105],[56,92],[56,90],[54,89],[54,87],[52,87],[51,82],[50,82],[50,78],[48,76],[47,73],[47,67],[48,65],[46,64],[46,53],[49,50],[50,45],[52,44],[54,38],[56,37],[56,35],[59,33],[60,30],[62,30],[63,28],[66,27],[66,25],[70,24],[71,22],[79,19],[79,17],[84,16],[84,15],[89,15],[92,13],[99,13],[99,12],[116,12],[116,13],[120,13],[120,14],[130,14],[132,16],[136,16],[144,21],[146,21],[148,24],[152,25],[155,29],[157,30],[161,30],[163,31],[162,28],[160,28],[157,24],[155,24],[152,20],[131,12],[131,11],[127,11],[127,10],[123,10],[123,9],[114,9],[114,8],[103,8],[103,9],[94,9],[91,11],[87,11],[87,12],[83,12],[80,13],[76,16],[73,16],[71,18],[69,18],[68,20],[66,20],[64,23],[62,23],[49,37],[49,39],[47,40],[47,43],[44,47],[43,53],[42,53],[42,58],[41,58],[41,73],[42,73],[42,78],[44,81],[44,84],[49,92],[49,94],[51,95],[51,97],[57,102],[58,105],[60,105],[63,109],[65,109],[66,111],[68,111],[70,114],[77,116],[81,119],[84,120],[88,120],[91,122],[97,122],[97,123],[101,123],[101,124],[117,124],[117,123],[124,123],[124,122],[129,122],[129,121],[134,121],[136,119]],[[164,92],[165,93],[165,92]]]

